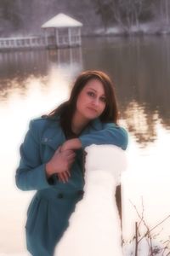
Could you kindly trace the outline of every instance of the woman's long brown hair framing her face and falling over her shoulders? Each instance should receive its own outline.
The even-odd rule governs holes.
[[[104,112],[99,116],[101,122],[117,122],[118,110],[116,104],[116,96],[114,90],[114,84],[110,77],[101,71],[89,70],[82,72],[76,79],[71,90],[70,99],[58,108],[55,108],[51,113],[48,114],[48,118],[54,118],[59,114],[60,125],[65,131],[66,137],[76,137],[76,135],[71,131],[71,119],[77,108],[77,97],[82,91],[83,87],[88,83],[89,80],[98,79],[104,86],[106,105]]]

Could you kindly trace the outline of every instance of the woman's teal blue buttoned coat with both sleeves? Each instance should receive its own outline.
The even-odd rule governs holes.
[[[113,144],[127,148],[127,131],[113,123],[94,121],[82,131],[82,149],[91,144]],[[22,190],[37,190],[27,211],[26,243],[34,256],[52,256],[54,247],[68,226],[68,219],[83,194],[82,149],[77,150],[67,183],[57,175],[47,179],[45,163],[65,142],[65,134],[56,119],[40,118],[30,122],[20,146],[20,166],[16,185]]]

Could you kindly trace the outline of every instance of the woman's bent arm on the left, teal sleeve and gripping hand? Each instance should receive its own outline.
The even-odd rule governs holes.
[[[48,177],[54,173],[68,171],[76,155],[74,152],[59,154],[56,151],[48,163],[42,164],[40,146],[36,121],[31,121],[24,143],[20,146],[20,165],[15,175],[19,189],[38,190],[50,187]]]

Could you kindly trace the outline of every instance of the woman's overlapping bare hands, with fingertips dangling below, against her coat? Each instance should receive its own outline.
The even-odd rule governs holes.
[[[65,150],[61,152],[59,147],[53,157],[46,164],[47,177],[57,173],[60,181],[68,181],[71,176],[70,169],[73,164],[76,154],[73,150]]]

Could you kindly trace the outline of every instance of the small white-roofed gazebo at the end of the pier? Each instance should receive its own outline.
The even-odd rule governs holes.
[[[72,47],[82,44],[82,23],[68,15],[59,14],[42,25],[48,48]]]

